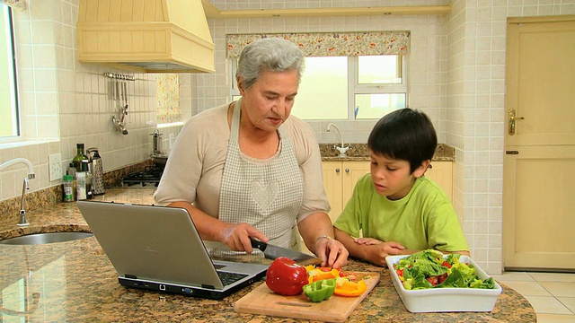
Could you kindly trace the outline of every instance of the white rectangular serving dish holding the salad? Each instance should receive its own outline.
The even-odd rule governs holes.
[[[388,256],[385,258],[394,282],[395,290],[403,301],[407,310],[413,313],[419,312],[457,312],[457,311],[491,311],[501,293],[501,286],[495,282],[495,288],[437,288],[408,291],[403,287],[401,280],[394,270],[394,264],[401,258],[409,255]],[[447,258],[447,255],[445,256]],[[475,274],[480,279],[489,278],[489,275],[475,264],[472,258],[461,256],[459,261],[470,263],[475,267]]]

